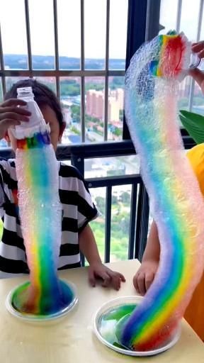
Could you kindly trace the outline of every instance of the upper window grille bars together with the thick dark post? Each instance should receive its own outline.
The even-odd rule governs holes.
[[[58,99],[60,99],[60,77],[80,77],[81,79],[81,143],[85,142],[85,77],[104,77],[104,132],[103,141],[108,140],[108,80],[109,77],[125,77],[125,71],[128,69],[130,59],[140,45],[145,40],[154,38],[159,32],[159,13],[161,0],[128,0],[128,28],[127,28],[127,44],[125,69],[114,70],[108,69],[109,61],[109,33],[110,33],[110,4],[111,0],[106,0],[106,59],[105,69],[103,70],[86,70],[84,67],[84,0],[80,0],[81,6],[81,69],[79,70],[62,70],[59,67],[59,49],[58,49],[58,30],[57,30],[57,0],[52,0],[53,4],[53,27],[55,35],[55,69],[38,70],[33,69],[32,65],[32,49],[30,40],[30,18],[29,18],[29,0],[24,0],[25,16],[26,16],[26,40],[28,69],[4,69],[4,49],[1,40],[0,25],[0,78],[3,96],[6,94],[6,77],[55,77],[55,86]],[[198,18],[197,40],[200,39],[200,31],[203,20],[204,0],[200,0],[200,13]],[[182,12],[182,0],[178,0],[176,14],[176,31],[180,30]],[[188,101],[188,109],[193,107],[195,81],[191,79],[191,89]],[[182,129],[181,129],[182,133]],[[125,122],[125,112],[123,113],[123,140],[130,140],[130,133]]]

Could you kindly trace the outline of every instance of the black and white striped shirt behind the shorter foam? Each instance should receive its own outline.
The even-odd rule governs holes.
[[[79,171],[63,162],[58,163],[62,203],[62,240],[58,269],[68,269],[81,266],[79,233],[98,213]],[[28,273],[17,192],[15,160],[0,160],[0,212],[4,222],[0,242],[0,272],[8,274]]]

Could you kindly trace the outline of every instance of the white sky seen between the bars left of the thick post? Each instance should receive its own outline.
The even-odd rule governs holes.
[[[52,0],[29,0],[33,55],[54,55]],[[0,0],[4,54],[26,53],[24,0]],[[80,57],[80,0],[58,0],[59,53]],[[128,0],[111,0],[110,57],[125,58]],[[106,0],[84,0],[85,57],[103,58],[106,52]]]

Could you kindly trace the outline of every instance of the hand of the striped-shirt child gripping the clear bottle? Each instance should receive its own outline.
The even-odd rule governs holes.
[[[0,105],[0,139],[4,138],[10,126],[20,125],[20,121],[29,121],[28,116],[31,113],[18,106],[26,106],[26,102],[21,99],[8,99]]]

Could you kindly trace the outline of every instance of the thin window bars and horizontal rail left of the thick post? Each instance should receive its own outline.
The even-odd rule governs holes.
[[[131,1],[129,1],[131,2]],[[109,77],[125,77],[124,70],[108,69],[109,64],[109,33],[110,33],[110,0],[106,0],[106,58],[105,69],[88,70],[84,65],[84,0],[80,0],[80,17],[81,17],[81,69],[79,70],[62,70],[59,67],[59,48],[58,48],[58,30],[57,30],[57,0],[52,0],[53,5],[53,26],[55,35],[55,69],[38,70],[33,69],[32,65],[32,45],[30,40],[30,18],[29,18],[29,0],[24,0],[25,18],[26,18],[26,40],[28,69],[4,69],[4,49],[1,39],[0,25],[0,78],[2,84],[3,97],[6,94],[6,77],[55,77],[55,86],[57,98],[60,99],[60,77],[80,77],[81,79],[81,143],[85,142],[85,77],[104,77],[104,131],[103,141],[108,140],[108,79]]]

